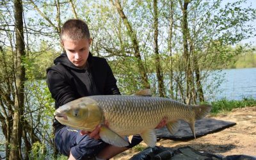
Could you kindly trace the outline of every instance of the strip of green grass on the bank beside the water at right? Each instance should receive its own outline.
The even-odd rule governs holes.
[[[244,108],[250,106],[256,106],[256,99],[253,98],[243,98],[243,100],[227,100],[221,99],[214,102],[212,104],[212,115],[217,115],[218,113],[226,113],[231,111],[234,108]]]

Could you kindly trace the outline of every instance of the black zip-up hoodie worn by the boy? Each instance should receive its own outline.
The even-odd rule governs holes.
[[[106,59],[90,53],[87,62],[85,68],[77,68],[63,53],[54,60],[55,65],[47,69],[47,84],[56,109],[89,95],[120,95]],[[56,130],[63,126],[57,120],[54,122]]]

